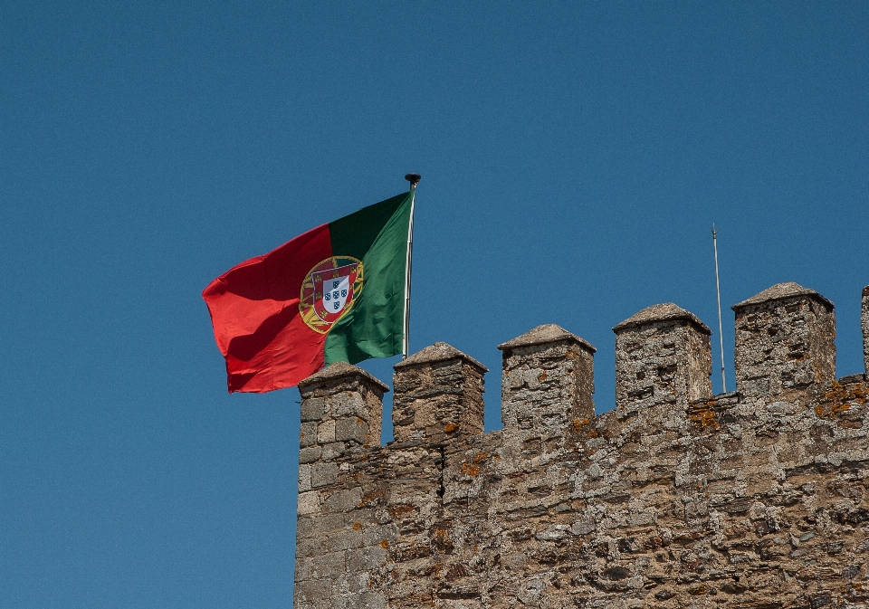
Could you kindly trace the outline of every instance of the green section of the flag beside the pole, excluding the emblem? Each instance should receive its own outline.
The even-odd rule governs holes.
[[[329,223],[332,253],[362,261],[362,293],[326,336],[326,364],[401,353],[413,191]]]

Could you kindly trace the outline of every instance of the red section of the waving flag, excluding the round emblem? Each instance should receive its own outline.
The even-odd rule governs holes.
[[[326,335],[301,319],[299,299],[308,272],[331,255],[329,224],[322,224],[235,265],[202,292],[230,393],[291,387],[323,366]]]

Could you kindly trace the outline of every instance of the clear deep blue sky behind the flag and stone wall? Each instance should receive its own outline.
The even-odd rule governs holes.
[[[411,350],[489,366],[490,429],[495,346],[541,323],[597,347],[598,411],[616,323],[717,330],[713,223],[731,384],[729,307],[779,281],[862,372],[867,32],[864,2],[6,0],[0,606],[291,604],[299,395],[226,394],[200,293],[407,172]]]

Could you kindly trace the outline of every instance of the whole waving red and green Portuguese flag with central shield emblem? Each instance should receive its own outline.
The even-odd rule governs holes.
[[[202,292],[230,393],[402,352],[414,190],[237,264]]]

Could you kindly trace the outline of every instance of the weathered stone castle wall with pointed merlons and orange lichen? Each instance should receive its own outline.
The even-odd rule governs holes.
[[[586,340],[540,326],[485,366],[445,343],[389,390],[335,364],[299,385],[294,604],[778,607],[869,604],[869,384],[836,380],[833,303],[780,283],[732,308],[737,391],[711,394],[711,331],[673,303],[616,333],[596,415]],[[869,369],[869,287],[861,325]]]

